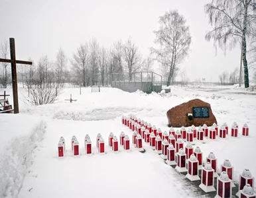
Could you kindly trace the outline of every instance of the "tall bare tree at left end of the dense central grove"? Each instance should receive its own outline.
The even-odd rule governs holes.
[[[89,49],[86,42],[85,44],[80,44],[77,52],[73,54],[73,59],[70,61],[78,83],[82,83],[83,86],[86,86],[88,79],[88,56]]]

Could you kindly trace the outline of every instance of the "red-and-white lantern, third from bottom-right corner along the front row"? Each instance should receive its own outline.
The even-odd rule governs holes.
[[[206,193],[216,191],[214,188],[214,170],[210,162],[202,168],[201,184],[199,187]]]

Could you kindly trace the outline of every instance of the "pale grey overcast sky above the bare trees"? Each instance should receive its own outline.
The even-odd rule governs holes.
[[[79,44],[96,38],[106,48],[113,42],[135,40],[143,55],[154,46],[159,16],[177,9],[187,20],[192,36],[189,57],[180,65],[190,80],[218,81],[223,71],[239,67],[239,46],[226,55],[204,36],[210,30],[204,4],[210,0],[0,0],[0,42],[15,38],[17,59],[55,61],[62,48],[68,59]],[[156,65],[157,67],[157,65]],[[156,69],[156,71],[158,71]]]

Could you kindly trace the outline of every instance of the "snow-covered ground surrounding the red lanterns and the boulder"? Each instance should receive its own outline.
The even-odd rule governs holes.
[[[166,111],[194,98],[212,106],[218,124],[233,121],[239,125],[239,137],[206,139],[196,142],[204,153],[218,158],[218,166],[227,158],[234,166],[234,180],[245,168],[256,176],[256,94],[229,86],[172,87],[171,94],[128,93],[117,88],[66,88],[54,104],[31,106],[27,93],[19,88],[20,114],[0,114],[0,198],[1,197],[196,197],[184,185],[184,176],[164,164],[162,158],[143,143],[144,154],[131,147],[113,153],[98,154],[96,135],[108,143],[109,133],[119,137],[121,116],[133,114],[162,131],[167,131]],[[0,89],[0,93],[3,89]],[[7,94],[12,94],[7,89]],[[78,101],[70,103],[65,99]],[[12,97],[9,98],[11,104]],[[249,137],[241,137],[241,127],[249,125]],[[92,156],[86,156],[84,137],[90,135]],[[72,156],[70,140],[76,135],[80,156]],[[66,139],[66,156],[58,158],[60,136]],[[197,196],[198,197],[198,196]]]

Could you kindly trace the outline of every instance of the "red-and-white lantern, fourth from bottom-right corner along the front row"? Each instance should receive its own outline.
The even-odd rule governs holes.
[[[198,176],[198,160],[194,154],[188,159],[188,174],[186,174],[186,178],[190,181],[200,180]]]

